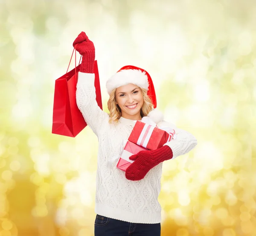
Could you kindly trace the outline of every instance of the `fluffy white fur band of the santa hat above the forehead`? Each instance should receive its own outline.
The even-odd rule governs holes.
[[[111,91],[114,88],[130,83],[148,90],[148,76],[145,71],[142,72],[136,69],[128,69],[119,71],[108,79],[106,83],[108,94],[111,94]]]

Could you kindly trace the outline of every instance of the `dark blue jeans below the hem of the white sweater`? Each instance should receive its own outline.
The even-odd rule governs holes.
[[[96,215],[95,236],[160,236],[161,225],[130,223]]]

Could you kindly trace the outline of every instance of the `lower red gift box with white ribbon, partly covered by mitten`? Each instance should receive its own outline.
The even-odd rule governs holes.
[[[134,154],[137,154],[139,151],[145,151],[145,150],[148,150],[148,149],[143,148],[133,142],[127,141],[116,167],[122,171],[126,171],[128,166],[131,165],[132,162],[134,162],[130,160],[129,157]]]

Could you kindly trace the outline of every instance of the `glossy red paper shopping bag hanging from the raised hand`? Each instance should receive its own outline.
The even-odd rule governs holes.
[[[72,71],[67,72],[66,74],[55,80],[52,134],[75,137],[87,125],[84,121],[84,117],[82,116],[79,108],[76,105],[76,84],[80,66],[81,65],[76,66]],[[94,86],[96,88],[96,101],[99,107],[102,109],[102,98],[99,85],[99,71],[97,61],[94,62],[93,73],[95,74]]]

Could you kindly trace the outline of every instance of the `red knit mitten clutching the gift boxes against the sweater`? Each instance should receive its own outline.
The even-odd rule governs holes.
[[[140,151],[130,156],[129,159],[134,160],[134,162],[125,171],[126,179],[140,180],[154,166],[165,160],[172,159],[172,149],[166,145],[156,150]]]

